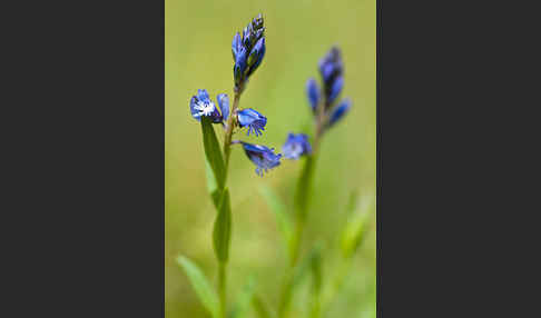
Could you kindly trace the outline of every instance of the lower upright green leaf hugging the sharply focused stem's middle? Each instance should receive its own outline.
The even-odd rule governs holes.
[[[229,190],[226,188],[218,205],[218,216],[214,222],[213,241],[214,251],[219,261],[226,262],[229,255],[229,240],[232,233],[232,207]]]

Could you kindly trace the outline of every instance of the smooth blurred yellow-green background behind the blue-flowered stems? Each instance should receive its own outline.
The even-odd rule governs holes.
[[[214,284],[217,278],[212,245],[216,211],[205,185],[200,126],[191,118],[188,102],[199,88],[207,89],[213,100],[222,92],[233,100],[232,39],[259,12],[265,20],[267,50],[247,85],[240,108],[260,111],[268,122],[259,138],[245,133],[234,138],[281,151],[287,132],[311,135],[306,80],[314,77],[319,81],[318,60],[333,44],[342,49],[345,64],[342,97],[350,97],[353,107],[324,136],[304,246],[306,250],[316,239],[325,242],[323,270],[324,279],[328,280],[338,266],[334,244],[347,221],[350,193],[358,189],[363,198],[375,198],[375,0],[166,0],[165,9],[166,317],[209,317],[175,262],[178,255],[193,259]],[[223,138],[219,129],[216,131]],[[282,166],[259,178],[244,151],[234,148],[228,180],[233,208],[229,304],[249,274],[257,278],[257,290],[265,301],[272,307],[278,304],[286,254],[274,215],[258,187],[272,187],[292,203],[301,168],[301,161],[283,160]],[[327,317],[375,317],[375,274],[374,216],[368,236]],[[294,310],[302,312],[305,298],[301,290],[294,299]]]

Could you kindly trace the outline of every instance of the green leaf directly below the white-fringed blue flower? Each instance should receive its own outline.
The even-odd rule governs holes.
[[[218,188],[223,189],[225,183],[224,158],[222,157],[222,150],[216,133],[214,132],[213,123],[210,122],[210,119],[205,116],[201,117],[201,130],[205,156],[213,169]]]

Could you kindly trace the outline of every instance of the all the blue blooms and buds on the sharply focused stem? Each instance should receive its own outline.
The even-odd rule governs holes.
[[[233,59],[235,66],[233,68],[235,79],[235,95],[238,97],[245,87],[250,74],[259,67],[263,57],[265,56],[265,28],[263,27],[262,14],[253,19],[252,22],[244,29],[243,36],[237,32],[233,38]],[[255,133],[257,137],[263,135],[265,126],[267,125],[267,118],[255,109],[229,109],[229,98],[225,93],[220,93],[216,98],[218,108],[210,100],[208,92],[205,89],[199,89],[197,95],[191,97],[189,107],[191,116],[200,120],[201,117],[208,117],[214,123],[222,123],[226,127],[225,122],[232,113],[232,122],[235,128],[247,128],[247,136]],[[227,133],[227,129],[226,129]],[[233,130],[230,131],[233,133]],[[230,139],[229,139],[230,140]],[[240,143],[244,147],[244,151],[252,162],[256,165],[256,173],[263,176],[263,172],[267,172],[268,169],[279,166],[281,153],[275,155],[274,148],[267,148],[260,145],[252,145],[244,141],[232,141],[232,143]]]

